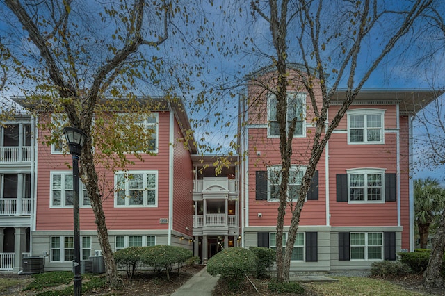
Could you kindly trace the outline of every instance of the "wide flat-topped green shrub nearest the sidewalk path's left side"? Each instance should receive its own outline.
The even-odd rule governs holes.
[[[184,263],[193,256],[191,250],[183,247],[175,247],[168,245],[156,245],[145,247],[141,260],[143,263],[152,266],[155,269],[163,268],[170,280],[170,272],[173,265]]]

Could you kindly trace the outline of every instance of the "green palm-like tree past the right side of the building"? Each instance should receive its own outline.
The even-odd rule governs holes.
[[[419,229],[421,249],[426,249],[430,226],[439,221],[444,207],[445,190],[437,179],[414,180],[414,222]]]

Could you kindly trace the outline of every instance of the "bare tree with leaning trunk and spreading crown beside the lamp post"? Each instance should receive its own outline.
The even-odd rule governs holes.
[[[156,48],[168,38],[170,3],[146,3],[145,0],[112,1],[104,5],[71,0],[2,2],[24,30],[22,40],[29,48],[24,56],[34,57],[27,60],[22,75],[44,90],[46,96],[40,97],[40,101],[49,98],[44,104],[52,110],[61,106],[70,125],[88,136],[81,155],[81,179],[95,213],[108,283],[118,286],[120,277],[108,242],[102,192],[92,153],[92,121],[106,90],[117,94],[125,84],[134,85],[140,75],[134,69],[135,63],[146,63],[142,56],[136,56],[140,47]],[[86,19],[79,19],[82,15]]]

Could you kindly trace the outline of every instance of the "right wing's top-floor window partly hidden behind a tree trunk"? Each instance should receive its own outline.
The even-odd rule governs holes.
[[[303,92],[287,93],[287,126],[286,133],[293,118],[296,118],[296,127],[293,132],[294,137],[306,136],[306,94]],[[275,94],[268,96],[268,136],[280,137],[280,126],[277,121],[277,97]]]

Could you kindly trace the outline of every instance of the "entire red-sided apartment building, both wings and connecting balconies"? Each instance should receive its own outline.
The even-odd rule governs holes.
[[[265,81],[274,74],[266,68],[250,79]],[[290,80],[288,91],[288,114],[298,117],[292,199],[306,169],[314,113],[298,79]],[[335,94],[328,122],[343,97],[343,91]],[[411,120],[420,104],[435,98],[431,90],[360,92],[318,163],[292,270],[366,269],[414,249]],[[241,95],[238,154],[243,157],[229,156],[231,165],[218,175],[216,156],[201,156],[193,141],[181,142],[190,129],[184,105],[157,100],[162,107],[140,119],[156,131],[150,143],[154,155],[143,155],[143,162],[134,158],[128,172],[98,169],[114,188],[103,203],[112,248],[178,245],[205,262],[227,247],[275,247],[280,151],[273,94],[250,83]],[[15,101],[26,106],[24,99]],[[57,117],[42,113],[37,120]],[[37,120],[25,116],[1,129],[1,270],[21,270],[22,258],[30,255],[43,257],[45,270],[72,267],[71,157],[61,145],[42,144],[51,131],[36,128]],[[143,197],[120,198],[132,190],[142,190]],[[81,257],[88,259],[101,250],[86,190],[79,191]]]

